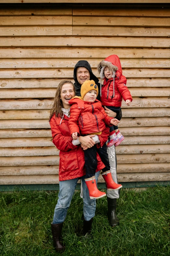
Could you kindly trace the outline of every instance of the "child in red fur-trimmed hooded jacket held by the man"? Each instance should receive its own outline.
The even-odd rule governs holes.
[[[100,96],[103,106],[118,113],[121,110],[122,99],[130,106],[132,96],[126,87],[126,77],[122,75],[120,59],[117,55],[110,55],[105,60],[102,60],[97,66],[101,80],[104,83],[100,86]],[[120,120],[120,119],[119,119]],[[118,126],[110,128],[109,141],[107,147],[118,146],[124,140]]]

